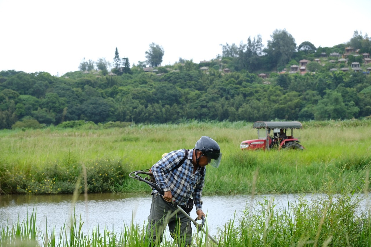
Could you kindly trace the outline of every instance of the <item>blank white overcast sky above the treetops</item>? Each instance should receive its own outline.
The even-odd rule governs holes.
[[[162,65],[179,57],[199,63],[222,53],[220,44],[275,29],[296,45],[348,42],[355,30],[371,36],[370,0],[0,0],[0,71],[59,76],[85,60],[119,56],[145,61],[150,43],[163,47]]]

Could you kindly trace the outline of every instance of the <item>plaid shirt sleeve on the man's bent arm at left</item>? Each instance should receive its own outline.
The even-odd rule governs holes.
[[[184,158],[184,155],[184,150],[183,152],[181,150],[171,151],[152,166],[152,173],[156,179],[156,183],[165,192],[170,191],[170,186],[168,185],[165,174],[171,171],[173,167],[177,166]]]

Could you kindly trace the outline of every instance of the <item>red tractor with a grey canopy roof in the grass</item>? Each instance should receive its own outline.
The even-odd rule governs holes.
[[[298,138],[292,135],[293,129],[301,129],[301,122],[254,122],[253,128],[257,129],[258,139],[243,141],[240,144],[242,150],[256,149],[304,149],[299,144]],[[291,129],[290,135],[287,131]],[[273,132],[273,135],[271,135]]]

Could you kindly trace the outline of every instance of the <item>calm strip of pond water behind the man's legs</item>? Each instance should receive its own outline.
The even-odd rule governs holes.
[[[311,201],[313,195],[301,195],[301,197]],[[237,220],[242,210],[245,208],[259,210],[257,202],[264,202],[265,199],[273,200],[273,198],[275,210],[278,210],[286,209],[289,207],[288,204],[298,202],[299,195],[259,195],[253,198],[250,195],[203,196],[203,210],[207,214],[209,233],[216,236],[218,228],[223,228],[224,224],[233,218]],[[367,201],[362,201],[361,210],[368,207]],[[36,208],[37,228],[45,232],[46,225],[55,225],[58,236],[60,227],[69,223],[70,215],[75,210],[76,218],[81,215],[84,222],[83,233],[87,233],[97,225],[100,229],[106,226],[108,230],[114,228],[118,232],[124,225],[130,225],[131,221],[141,227],[145,225],[150,205],[150,194],[140,196],[117,193],[88,194],[87,198],[79,195],[75,202],[72,195],[1,195],[0,225],[6,225],[7,222],[16,223],[18,217],[23,221],[26,219],[27,211],[31,214],[33,208]],[[196,210],[193,209],[191,217],[196,218],[196,216]]]

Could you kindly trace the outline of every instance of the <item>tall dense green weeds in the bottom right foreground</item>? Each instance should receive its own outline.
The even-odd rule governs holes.
[[[370,246],[369,212],[356,213],[349,195],[300,198],[286,209],[262,200],[258,210],[243,211],[238,224],[220,230],[224,246]]]

